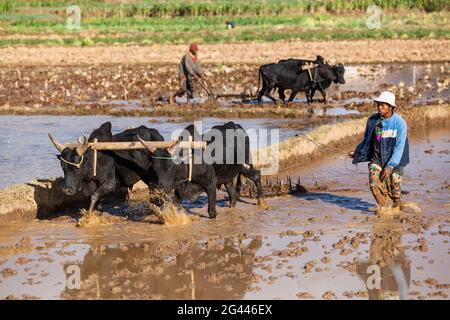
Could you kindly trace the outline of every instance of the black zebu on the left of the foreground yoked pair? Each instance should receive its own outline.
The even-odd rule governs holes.
[[[139,180],[150,184],[153,175],[147,169],[151,167],[151,158],[145,149],[99,150],[97,151],[97,174],[93,175],[94,155],[89,148],[89,142],[93,142],[94,138],[98,142],[138,141],[137,135],[147,141],[164,140],[158,131],[144,126],[112,135],[110,122],[95,129],[89,139],[84,137],[83,142],[79,142],[75,148],[59,143],[49,134],[53,145],[61,153],[58,159],[61,161],[64,172],[63,192],[67,195],[74,195],[77,191],[83,192],[91,198],[89,211],[92,211],[99,200],[121,187],[130,188]]]

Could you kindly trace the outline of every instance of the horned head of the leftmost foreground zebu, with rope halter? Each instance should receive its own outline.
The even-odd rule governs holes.
[[[64,172],[63,192],[67,195],[74,195],[77,191],[82,191],[84,183],[83,177],[88,175],[90,170],[86,151],[89,148],[88,139],[83,136],[78,139],[76,145],[65,145],[48,135],[55,148],[61,153],[57,158],[61,161],[61,168]]]

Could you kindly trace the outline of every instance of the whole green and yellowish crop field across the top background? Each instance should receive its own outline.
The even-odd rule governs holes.
[[[200,43],[363,38],[449,38],[447,1],[91,1],[81,29],[66,24],[68,1],[2,1],[1,46]],[[381,28],[369,29],[371,4]],[[225,23],[233,21],[234,29]]]

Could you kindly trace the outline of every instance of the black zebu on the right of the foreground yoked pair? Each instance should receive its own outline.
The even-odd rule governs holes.
[[[229,130],[228,132],[233,141],[230,141],[230,136],[226,135],[227,130]],[[239,140],[239,135],[241,135],[242,140]],[[208,213],[210,217],[215,217],[216,187],[225,186],[229,195],[230,206],[234,207],[238,193],[233,180],[242,174],[256,184],[258,204],[260,203],[260,198],[262,197],[261,173],[250,163],[249,137],[240,125],[234,122],[217,125],[203,134],[203,136],[197,132],[194,125],[189,125],[184,129],[182,140],[186,140],[188,136],[192,136],[196,140],[206,141],[208,146],[216,143],[223,150],[221,159],[214,161],[216,154],[212,152],[211,161],[205,161],[204,157],[197,158],[201,157],[201,154],[194,151],[192,180],[188,181],[188,164],[186,162],[177,164],[170,161],[174,159],[174,150],[169,152],[168,150],[155,149],[148,146],[148,149],[153,152],[153,168],[158,181],[157,185],[160,188],[163,188],[166,192],[175,190],[175,196],[178,201],[181,201],[183,198],[193,200],[201,192],[206,191],[208,194]],[[215,140],[217,138],[222,138],[222,141]],[[239,143],[240,141],[242,143]],[[180,156],[185,156],[185,153],[181,151]],[[231,160],[228,163],[227,156]],[[239,159],[240,156],[242,156],[242,159]]]

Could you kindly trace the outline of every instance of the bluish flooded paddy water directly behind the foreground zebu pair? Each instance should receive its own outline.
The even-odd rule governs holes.
[[[146,125],[157,129],[166,140],[171,138],[175,130],[185,128],[192,123],[192,121],[183,120],[174,123],[165,117],[0,116],[0,188],[14,183],[28,182],[38,177],[60,176],[62,171],[55,157],[56,151],[47,134],[51,132],[60,141],[75,141],[83,133],[89,136],[94,128],[106,121],[112,122],[113,133],[129,127]],[[230,120],[204,118],[201,124],[205,131],[213,125],[228,121]],[[246,130],[270,130],[280,124],[280,120],[264,118],[242,119],[236,122]],[[281,121],[283,124],[292,122],[294,121]],[[307,125],[306,120],[304,122],[305,130],[312,128],[312,125]],[[279,138],[284,140],[300,132],[304,130],[282,128]],[[257,142],[251,145],[257,146]]]

